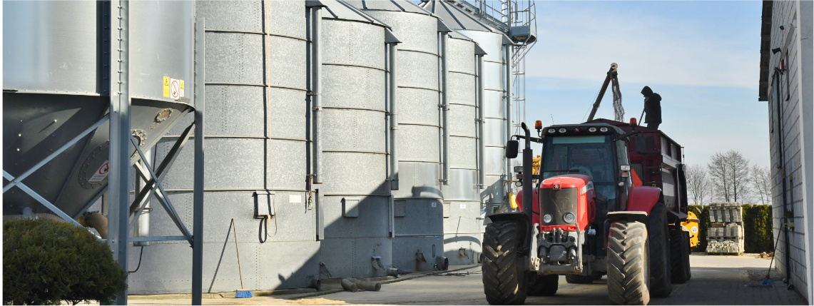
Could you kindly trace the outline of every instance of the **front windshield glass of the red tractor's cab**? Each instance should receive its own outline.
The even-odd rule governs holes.
[[[542,178],[584,174],[593,179],[597,194],[616,198],[615,157],[610,135],[545,138]]]

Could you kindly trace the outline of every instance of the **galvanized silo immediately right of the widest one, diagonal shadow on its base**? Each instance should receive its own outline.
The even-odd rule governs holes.
[[[342,1],[322,0],[322,186],[324,269],[369,277],[392,265],[388,114],[389,27]],[[391,37],[391,38],[387,38]],[[327,276],[327,275],[326,275]]]

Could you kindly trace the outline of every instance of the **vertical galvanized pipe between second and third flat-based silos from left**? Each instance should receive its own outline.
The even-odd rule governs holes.
[[[388,28],[384,31],[385,44],[387,44],[388,52],[390,53],[389,65],[390,68],[390,92],[388,98],[390,99],[390,190],[399,190],[399,155],[398,155],[398,129],[399,117],[396,107],[396,88],[398,87],[398,79],[396,78],[396,68],[398,68],[398,52],[400,43],[396,35]],[[392,206],[392,205],[391,205]]]

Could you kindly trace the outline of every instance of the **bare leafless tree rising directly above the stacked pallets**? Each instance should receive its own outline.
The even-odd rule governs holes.
[[[749,189],[749,160],[740,152],[716,152],[707,164],[712,186],[715,186],[716,195],[726,202],[748,201],[751,196]]]

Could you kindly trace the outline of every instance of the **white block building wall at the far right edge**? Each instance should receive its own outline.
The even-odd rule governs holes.
[[[794,24],[793,27],[781,24]],[[794,285],[809,302],[812,301],[812,2],[776,1],[772,5],[771,48],[781,48],[772,54],[770,68],[780,67],[786,59],[786,71],[780,77],[781,114],[777,114],[777,83],[772,77],[768,90],[768,107],[772,127],[770,134],[772,159],[773,226],[777,247],[777,267],[786,273],[786,238],[781,232],[785,222],[794,223],[789,234],[789,275]],[[777,120],[781,120],[782,130]],[[782,144],[778,143],[781,136]],[[782,146],[780,148],[780,146]],[[781,149],[780,152],[778,149]],[[780,154],[781,153],[781,154]],[[782,155],[782,160],[778,160]],[[791,218],[784,218],[784,188]],[[778,236],[779,234],[779,236]]]

